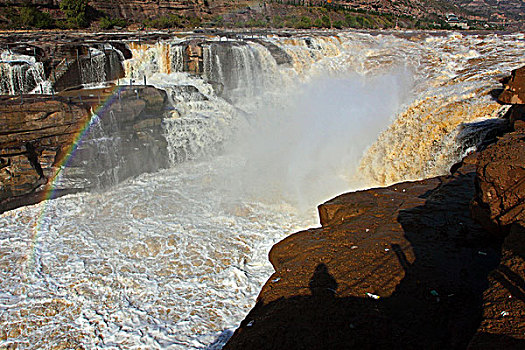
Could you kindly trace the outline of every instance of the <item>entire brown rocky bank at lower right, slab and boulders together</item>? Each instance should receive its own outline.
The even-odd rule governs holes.
[[[449,176],[320,205],[320,228],[272,248],[275,273],[225,349],[523,349],[522,107]]]

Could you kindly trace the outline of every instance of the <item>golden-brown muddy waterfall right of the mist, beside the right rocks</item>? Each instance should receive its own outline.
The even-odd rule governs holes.
[[[367,182],[385,186],[448,173],[464,156],[463,141],[457,139],[463,125],[498,118],[504,110],[488,91],[471,89],[429,92],[400,112],[361,159]]]

